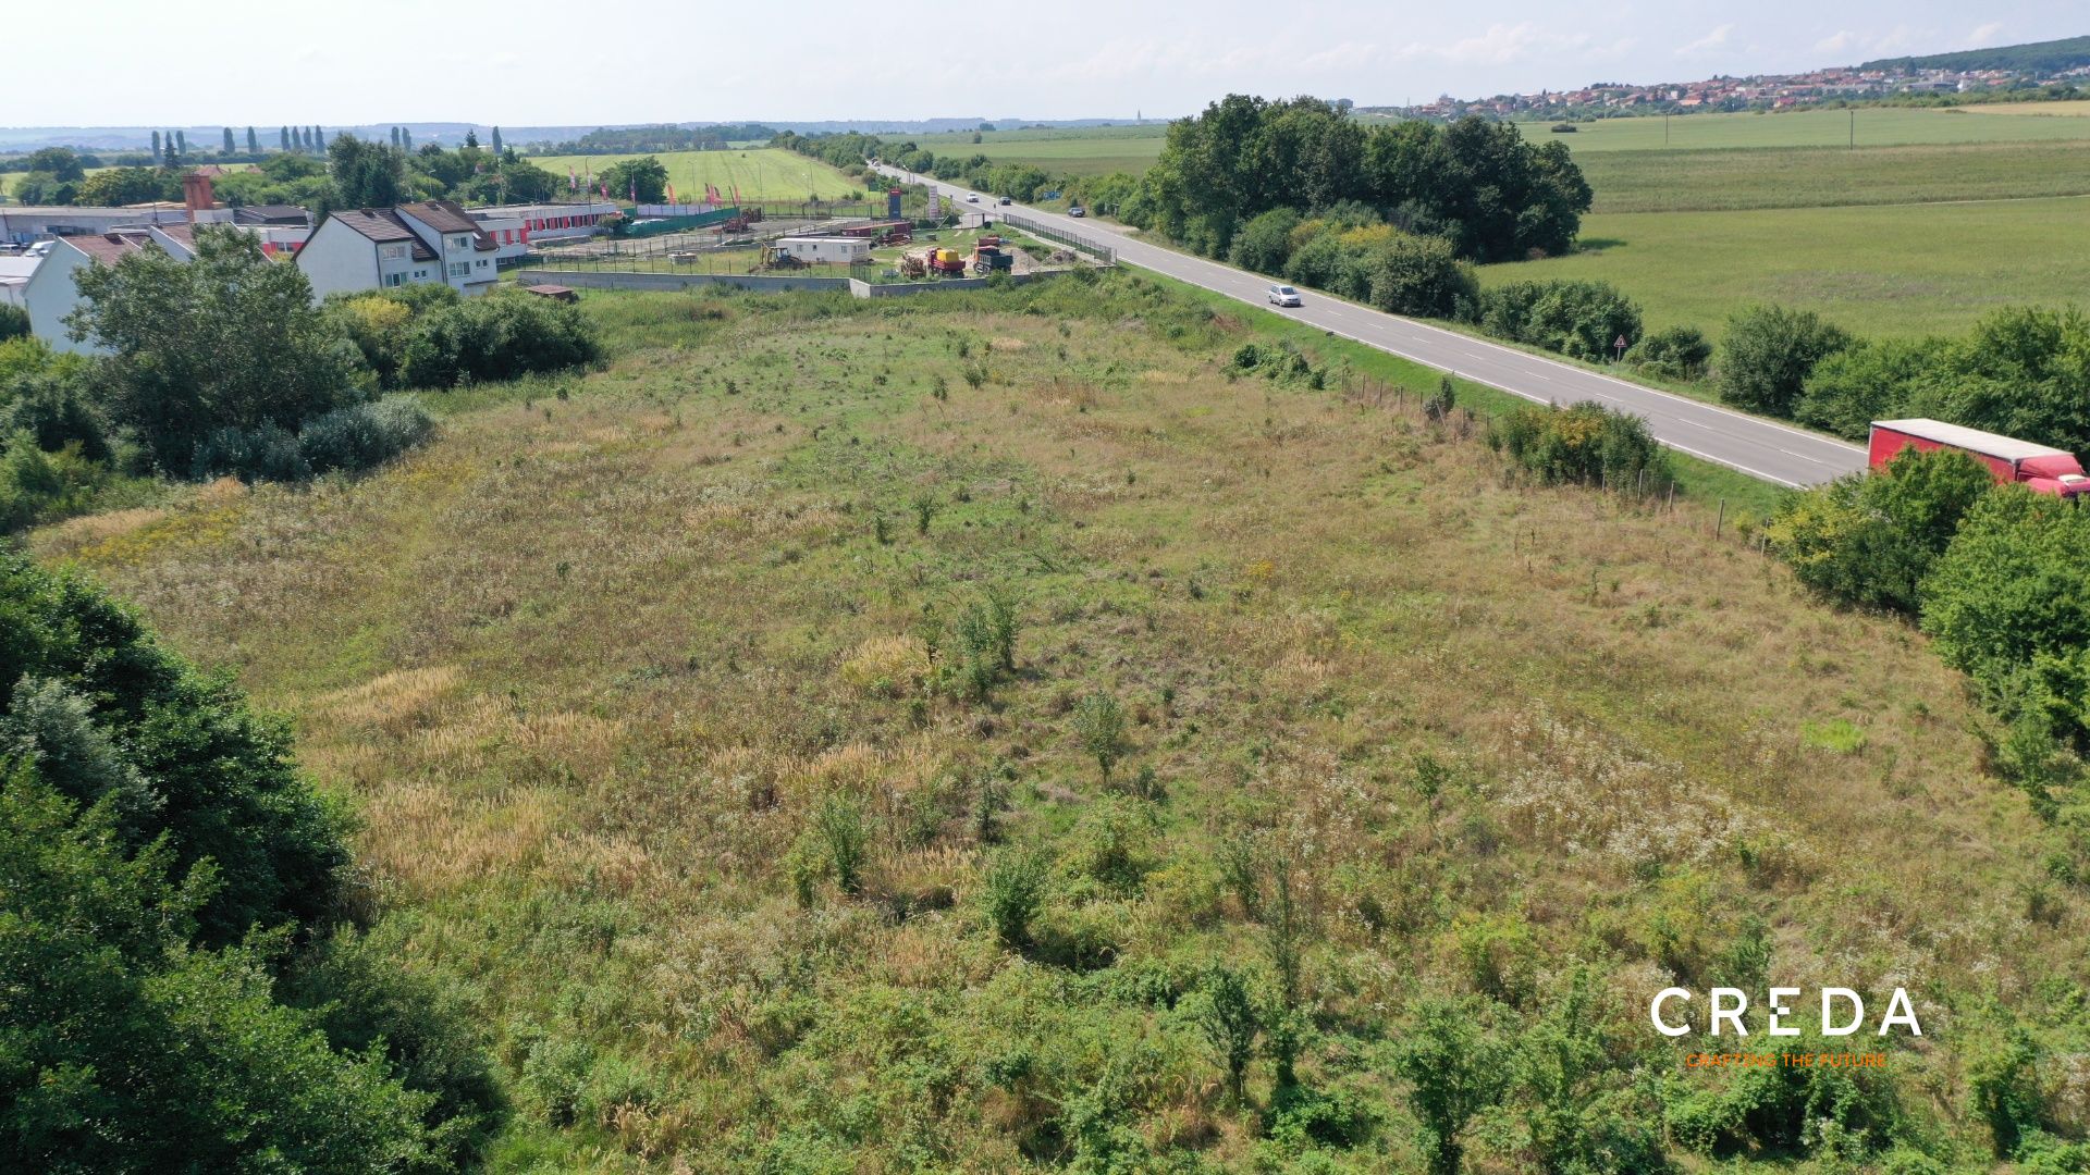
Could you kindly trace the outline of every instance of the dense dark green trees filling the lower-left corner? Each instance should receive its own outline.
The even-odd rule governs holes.
[[[466,1165],[497,1091],[441,1006],[339,966],[278,999],[347,863],[286,728],[27,556],[0,615],[0,1167]]]

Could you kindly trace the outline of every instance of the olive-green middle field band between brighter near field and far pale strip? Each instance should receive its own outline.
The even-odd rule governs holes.
[[[1595,211],[1733,211],[2080,197],[2090,144],[1789,146],[1593,151],[1576,157]]]

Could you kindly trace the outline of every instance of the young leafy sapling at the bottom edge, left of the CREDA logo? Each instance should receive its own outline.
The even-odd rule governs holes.
[[[1478,999],[1423,999],[1394,1050],[1432,1175],[1459,1175],[1467,1123],[1499,1104],[1509,1085],[1507,1056],[1484,1029],[1484,1010]]]

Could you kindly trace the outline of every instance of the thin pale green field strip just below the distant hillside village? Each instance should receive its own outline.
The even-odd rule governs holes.
[[[1808,109],[1747,115],[1659,115],[1574,123],[1574,134],[1553,134],[1547,121],[1519,123],[1526,138],[1559,138],[1582,153],[1597,151],[1693,151],[1710,146],[1848,146],[1850,109]],[[1668,123],[1668,142],[1664,142]],[[2023,119],[1963,115],[1948,109],[1856,109],[1858,146],[1904,146],[1940,142],[2025,142],[2090,140],[2090,119]]]

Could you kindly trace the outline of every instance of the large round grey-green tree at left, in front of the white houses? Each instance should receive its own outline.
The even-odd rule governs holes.
[[[142,249],[79,270],[75,339],[113,351],[98,372],[117,424],[186,475],[224,429],[280,429],[355,401],[353,353],[311,305],[311,282],[226,226],[196,228],[196,257]]]

